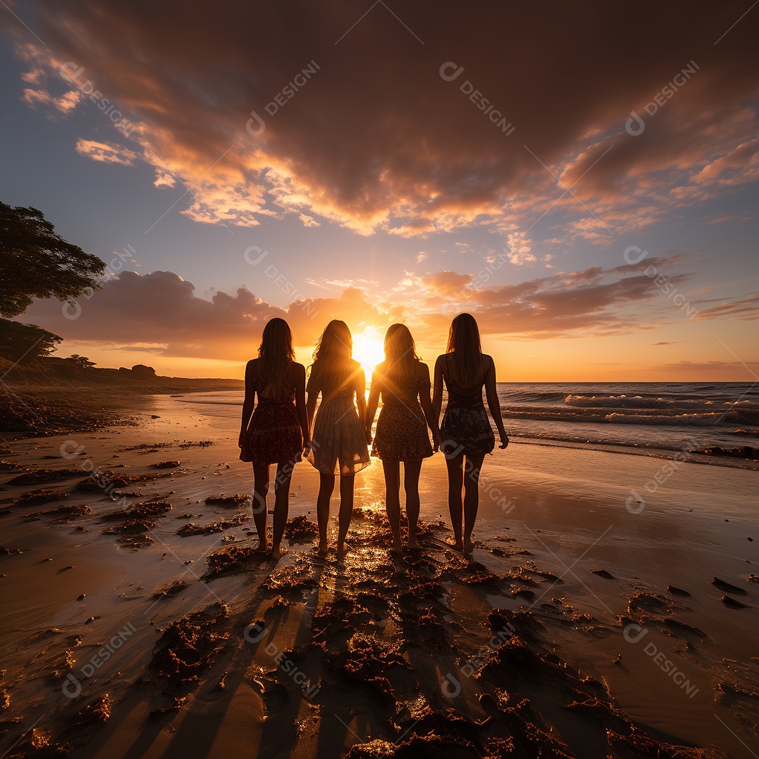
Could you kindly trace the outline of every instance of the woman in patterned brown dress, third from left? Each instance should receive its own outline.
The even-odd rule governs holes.
[[[392,324],[385,334],[385,361],[372,374],[365,431],[372,439],[372,424],[379,397],[379,412],[372,455],[382,459],[385,471],[385,509],[392,529],[392,550],[402,550],[400,462],[403,461],[403,484],[406,491],[408,547],[417,545],[419,520],[419,473],[422,459],[433,454],[427,427],[432,432],[435,450],[440,433],[430,402],[430,370],[417,356],[414,338],[405,324]],[[426,423],[425,423],[426,420]]]

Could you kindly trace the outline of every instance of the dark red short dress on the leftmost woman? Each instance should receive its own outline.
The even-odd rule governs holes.
[[[245,430],[241,461],[253,464],[286,464],[301,461],[303,434],[295,393],[288,398],[258,395],[258,404]]]

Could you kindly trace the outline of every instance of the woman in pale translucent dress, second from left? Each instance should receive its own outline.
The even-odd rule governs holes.
[[[308,460],[319,470],[317,521],[319,522],[319,553],[327,552],[329,502],[340,477],[340,513],[337,558],[345,556],[345,536],[353,514],[354,475],[369,466],[369,449],[361,423],[367,411],[366,379],[361,364],[353,360],[353,339],[345,322],[332,320],[313,352],[308,379],[308,420],[313,419],[317,398],[322,401],[313,421]],[[358,408],[356,408],[356,405]]]

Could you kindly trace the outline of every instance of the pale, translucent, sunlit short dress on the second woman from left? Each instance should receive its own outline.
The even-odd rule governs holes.
[[[309,380],[307,389],[318,392],[320,388]],[[326,399],[322,392],[322,402],[313,420],[308,461],[323,474],[346,477],[371,463],[364,423],[358,418],[353,396],[351,387],[332,393]]]

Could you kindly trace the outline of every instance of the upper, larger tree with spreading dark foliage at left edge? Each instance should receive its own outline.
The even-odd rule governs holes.
[[[105,270],[97,256],[58,235],[42,211],[0,203],[0,316],[24,313],[33,298],[71,301],[97,290]]]

